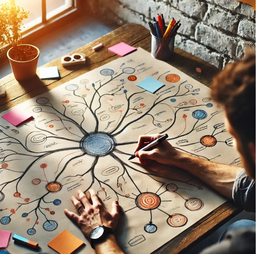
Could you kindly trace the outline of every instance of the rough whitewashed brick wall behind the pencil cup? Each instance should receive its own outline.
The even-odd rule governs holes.
[[[246,45],[255,48],[255,11],[235,0],[87,0],[98,15],[116,21],[142,24],[163,13],[182,24],[177,47],[223,68],[244,55]],[[168,17],[168,18],[167,18]]]

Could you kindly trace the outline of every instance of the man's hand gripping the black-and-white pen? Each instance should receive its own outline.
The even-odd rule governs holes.
[[[139,158],[140,163],[143,165],[148,165],[152,160],[155,160],[161,164],[178,166],[179,160],[184,153],[173,148],[167,140],[155,145],[151,151],[138,152],[138,150],[161,136],[161,134],[139,136],[139,141],[134,151],[135,156]]]

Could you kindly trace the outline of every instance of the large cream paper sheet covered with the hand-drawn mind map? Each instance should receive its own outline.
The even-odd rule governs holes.
[[[165,86],[155,94],[136,86],[148,76]],[[63,212],[75,212],[78,189],[96,190],[107,209],[119,199],[126,253],[155,250],[226,201],[181,169],[128,161],[139,135],[167,133],[191,156],[241,162],[210,89],[141,48],[17,107],[34,120],[14,127],[0,118],[0,227],[42,252],[67,229],[93,253]],[[12,242],[7,249],[28,252]]]

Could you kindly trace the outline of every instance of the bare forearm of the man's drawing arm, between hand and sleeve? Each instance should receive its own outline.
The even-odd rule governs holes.
[[[199,159],[186,153],[182,153],[177,161],[175,166],[185,169],[222,195],[232,199],[234,180],[242,168]]]

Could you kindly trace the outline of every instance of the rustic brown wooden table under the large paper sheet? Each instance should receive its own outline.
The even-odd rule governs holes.
[[[40,80],[38,77],[35,77],[30,81],[18,82],[13,74],[1,79],[0,84],[1,86],[5,86],[6,96],[0,97],[0,111],[2,112],[25,100],[45,93],[85,72],[115,60],[119,56],[110,53],[108,47],[120,41],[124,41],[134,47],[140,46],[149,52],[151,51],[151,35],[149,30],[138,24],[126,24],[77,49],[75,52],[84,52],[86,54],[86,64],[84,66],[77,65],[63,68],[60,63],[60,57],[43,65],[44,67],[58,66],[61,76],[60,80]],[[104,47],[95,52],[91,47],[98,43],[103,43]],[[178,48],[175,48],[174,57],[166,62],[208,87],[210,86],[212,77],[220,71],[211,64]],[[195,71],[196,67],[202,69],[202,74]],[[239,208],[234,206],[233,202],[228,201],[154,251],[154,253],[185,252],[240,211]]]

